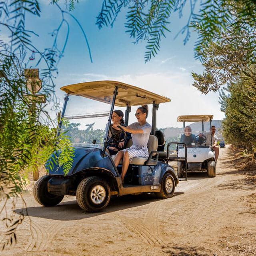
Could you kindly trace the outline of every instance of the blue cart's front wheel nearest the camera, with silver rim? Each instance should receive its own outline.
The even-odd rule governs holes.
[[[85,178],[76,189],[76,200],[80,208],[86,212],[99,212],[110,201],[110,187],[102,178]]]

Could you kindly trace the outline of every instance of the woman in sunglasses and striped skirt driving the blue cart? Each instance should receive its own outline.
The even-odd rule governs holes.
[[[122,126],[124,131],[132,134],[132,146],[119,151],[114,159],[115,165],[118,166],[123,159],[121,179],[124,182],[124,176],[128,170],[130,160],[134,157],[148,158],[148,139],[151,132],[151,125],[147,123],[148,106],[143,105],[137,109],[135,114],[138,122],[130,124],[127,127]],[[113,128],[116,127],[113,124]]]

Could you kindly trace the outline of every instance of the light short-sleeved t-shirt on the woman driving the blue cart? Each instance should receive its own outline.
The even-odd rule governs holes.
[[[137,146],[137,147],[142,147],[142,146],[148,146],[148,139],[150,136],[150,132],[151,132],[151,125],[149,123],[146,123],[142,126],[140,126],[139,122],[130,124],[129,126],[127,126],[130,129],[142,129],[143,133],[138,133],[138,134],[132,134],[132,143],[133,145]]]

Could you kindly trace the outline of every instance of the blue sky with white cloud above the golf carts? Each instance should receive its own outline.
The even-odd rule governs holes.
[[[58,27],[61,21],[60,11],[49,5],[48,0],[39,1],[42,10],[40,19],[27,18],[27,29],[37,31],[36,39],[42,49],[52,44],[50,32]],[[171,33],[161,41],[160,52],[156,58],[144,63],[145,42],[132,44],[133,39],[125,33],[124,9],[118,16],[114,27],[95,25],[96,16],[101,9],[102,0],[80,0],[72,12],[86,32],[93,63],[90,62],[86,42],[76,22],[66,15],[70,24],[70,35],[64,52],[64,58],[58,66],[56,78],[56,95],[63,102],[64,92],[61,86],[92,80],[119,80],[152,92],[167,96],[170,103],[163,104],[158,110],[158,127],[181,126],[176,118],[181,114],[214,114],[214,119],[222,119],[218,93],[202,95],[191,84],[191,72],[202,72],[202,65],[194,59],[194,42],[196,34],[184,46],[184,35],[174,40],[176,33],[186,24],[186,13],[182,19],[175,14],[169,25]],[[64,1],[60,1],[64,7]],[[188,8],[185,9],[185,11]],[[60,31],[58,44],[64,43],[66,26]],[[53,114],[54,115],[54,114]]]

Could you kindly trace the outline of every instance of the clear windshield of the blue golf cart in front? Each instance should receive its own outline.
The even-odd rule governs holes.
[[[72,146],[103,148],[112,98],[108,99],[108,103],[82,96],[69,96],[62,132],[70,136]]]

